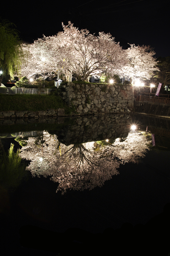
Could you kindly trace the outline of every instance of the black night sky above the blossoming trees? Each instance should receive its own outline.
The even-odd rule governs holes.
[[[150,45],[155,57],[170,56],[170,0],[23,1],[3,3],[1,18],[13,22],[23,41],[55,35],[71,21],[90,33],[110,32],[123,48],[128,43]]]

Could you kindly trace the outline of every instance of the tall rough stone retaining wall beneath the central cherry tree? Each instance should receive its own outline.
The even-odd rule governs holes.
[[[134,93],[132,86],[109,84],[61,85],[58,94],[68,104],[76,106],[79,114],[120,113],[132,109]]]

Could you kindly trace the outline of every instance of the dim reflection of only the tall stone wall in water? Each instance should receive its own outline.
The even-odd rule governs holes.
[[[66,146],[106,139],[125,138],[129,133],[131,118],[127,114],[82,116],[57,132],[58,140]]]

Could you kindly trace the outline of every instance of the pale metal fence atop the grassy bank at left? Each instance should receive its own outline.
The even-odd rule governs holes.
[[[56,87],[57,88],[57,87]],[[32,89],[32,88],[14,88],[0,87],[0,93],[2,94],[50,94],[55,89]]]

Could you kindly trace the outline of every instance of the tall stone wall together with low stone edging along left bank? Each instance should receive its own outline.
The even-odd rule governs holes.
[[[134,90],[132,86],[108,84],[74,84],[69,82],[58,89],[68,105],[74,105],[78,115],[126,113],[133,109]],[[38,118],[64,116],[64,109],[46,111],[0,111],[2,118]],[[75,115],[75,114],[74,114]]]

